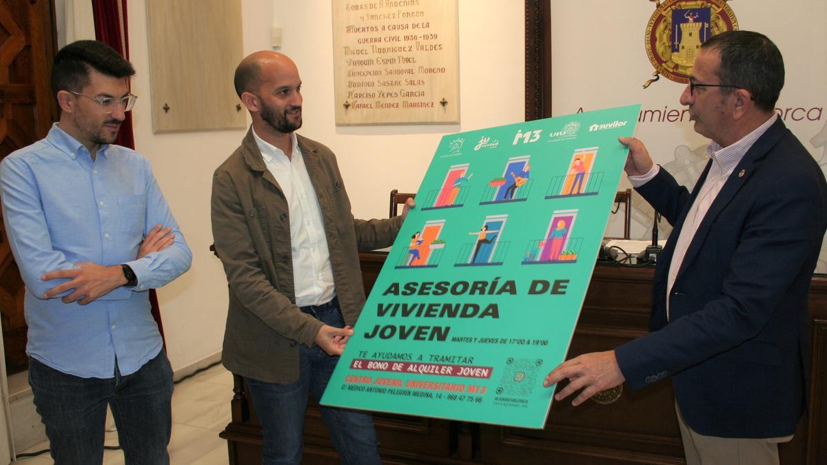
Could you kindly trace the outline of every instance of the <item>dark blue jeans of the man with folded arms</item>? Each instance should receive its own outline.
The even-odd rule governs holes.
[[[82,378],[29,359],[29,384],[55,465],[103,463],[106,407],[112,406],[126,463],[170,463],[172,367],[161,350],[137,372]]]

